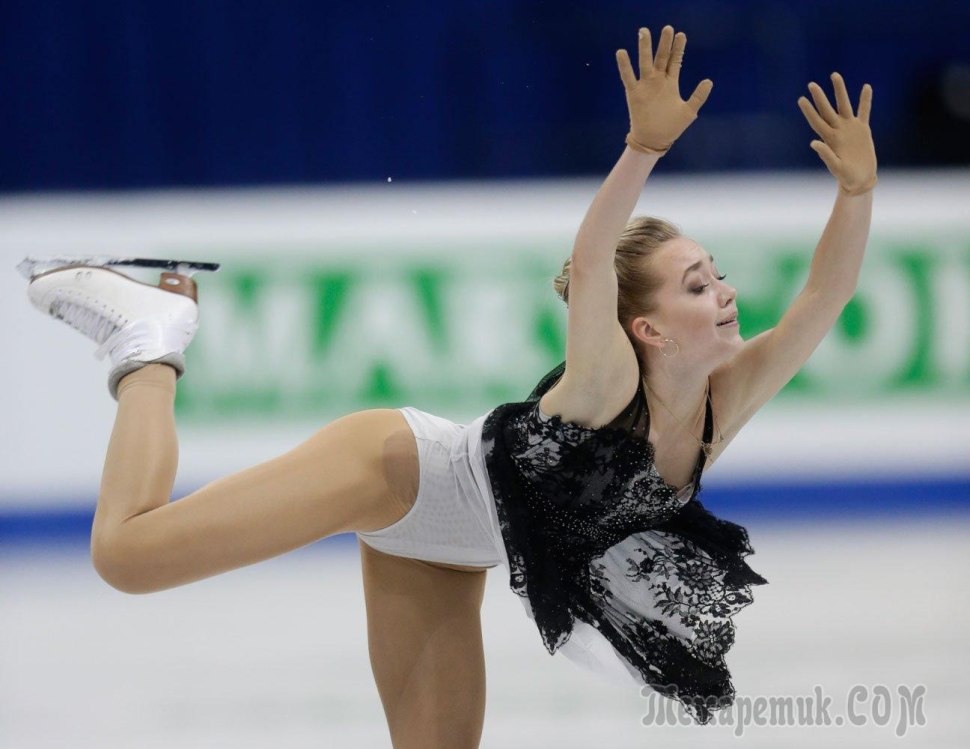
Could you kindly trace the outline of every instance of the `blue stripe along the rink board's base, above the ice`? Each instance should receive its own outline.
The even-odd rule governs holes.
[[[855,480],[819,483],[758,483],[703,487],[700,500],[719,517],[748,522],[805,522],[970,514],[970,475],[911,480]],[[90,509],[31,510],[29,497],[17,497],[0,510],[0,545],[87,542],[94,519]],[[66,504],[66,503],[65,503]],[[342,533],[322,543],[354,540]]]

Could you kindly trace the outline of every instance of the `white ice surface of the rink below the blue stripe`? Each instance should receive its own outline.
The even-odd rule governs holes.
[[[862,685],[868,699],[853,712],[864,725],[644,725],[648,697],[549,656],[495,568],[481,746],[965,747],[970,517],[746,525],[748,562],[769,584],[735,617],[733,714],[742,700],[753,709],[817,686],[838,720]],[[891,703],[874,704],[880,685]],[[924,725],[906,725],[900,685],[925,687]],[[327,539],[147,596],[108,587],[83,546],[4,549],[0,746],[389,747],[356,542]]]

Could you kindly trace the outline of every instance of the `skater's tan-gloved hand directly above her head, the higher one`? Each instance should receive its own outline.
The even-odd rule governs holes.
[[[664,26],[653,56],[650,30],[640,29],[639,80],[633,73],[630,57],[625,49],[616,51],[616,63],[626,90],[630,110],[630,132],[626,137],[630,148],[645,153],[664,154],[695,119],[707,101],[714,83],[705,78],[694,89],[690,99],[680,98],[680,66],[684,59],[687,35],[674,35],[672,26]]]

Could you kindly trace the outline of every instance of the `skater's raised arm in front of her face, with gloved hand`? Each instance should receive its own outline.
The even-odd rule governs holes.
[[[809,84],[814,109],[804,96],[801,108],[822,138],[811,147],[838,182],[835,206],[822,232],[808,280],[781,321],[746,341],[719,373],[725,414],[722,423],[737,431],[801,369],[835,325],[855,293],[872,219],[876,149],[869,129],[872,87],[867,83],[853,114],[845,82],[832,74],[838,111],[816,83]],[[725,432],[727,434],[727,432]]]

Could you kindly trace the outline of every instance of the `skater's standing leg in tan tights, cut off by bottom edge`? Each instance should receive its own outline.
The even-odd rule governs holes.
[[[477,747],[485,572],[359,546],[371,667],[395,749]]]

